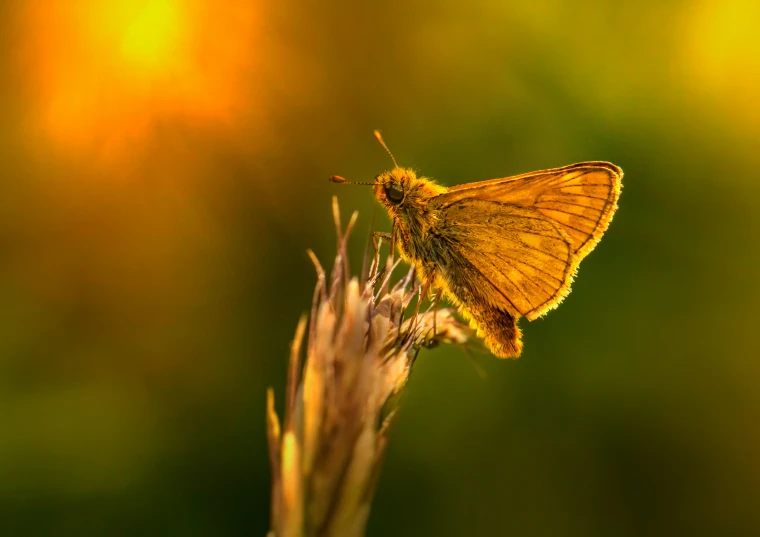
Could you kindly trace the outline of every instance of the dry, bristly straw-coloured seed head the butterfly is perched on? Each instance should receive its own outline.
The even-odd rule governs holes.
[[[306,317],[291,347],[284,423],[267,394],[272,466],[270,537],[360,537],[377,484],[388,432],[422,347],[465,343],[468,329],[450,309],[409,318],[417,286],[413,273],[390,285],[395,265],[369,276],[349,276],[346,242],[354,213],[342,231],[337,200],[333,215],[338,254],[328,277],[310,252],[317,286],[305,360]]]

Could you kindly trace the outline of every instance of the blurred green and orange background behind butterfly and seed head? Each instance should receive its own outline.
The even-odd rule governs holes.
[[[421,355],[369,536],[760,534],[760,7],[4,2],[0,535],[264,535],[264,403],[391,163],[609,160],[517,361]]]

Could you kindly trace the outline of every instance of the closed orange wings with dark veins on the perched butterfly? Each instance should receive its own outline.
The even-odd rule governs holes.
[[[478,294],[533,320],[570,292],[578,264],[617,208],[622,176],[606,162],[574,164],[454,187],[431,208],[442,219],[442,239],[471,267],[469,285],[491,289]],[[458,297],[465,303],[467,285]]]

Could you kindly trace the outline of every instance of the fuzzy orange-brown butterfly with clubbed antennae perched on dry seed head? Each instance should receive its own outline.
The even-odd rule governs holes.
[[[623,171],[581,162],[446,188],[399,167],[375,137],[394,164],[370,183],[393,221],[391,234],[377,235],[415,267],[423,297],[437,289],[494,355],[519,356],[517,320],[537,319],[570,293],[617,210]]]

